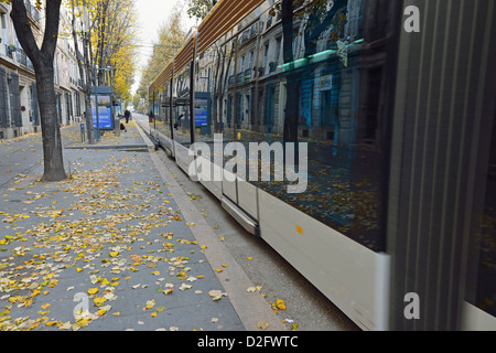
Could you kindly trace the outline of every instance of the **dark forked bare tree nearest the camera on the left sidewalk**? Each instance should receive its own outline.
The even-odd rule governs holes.
[[[45,32],[39,47],[31,29],[26,8],[22,0],[3,0],[12,4],[12,18],[19,43],[34,66],[36,89],[40,103],[40,119],[43,138],[45,182],[61,181],[67,178],[64,170],[61,128],[57,121],[56,96],[54,84],[54,55],[58,38],[58,24],[62,0],[50,0],[45,4]],[[36,1],[41,8],[41,1]]]

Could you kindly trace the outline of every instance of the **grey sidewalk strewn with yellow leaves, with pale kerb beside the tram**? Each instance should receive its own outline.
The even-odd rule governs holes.
[[[0,190],[0,330],[285,329],[145,140],[68,129],[67,181]]]

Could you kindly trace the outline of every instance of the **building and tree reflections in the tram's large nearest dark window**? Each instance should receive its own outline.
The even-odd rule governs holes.
[[[197,114],[202,125],[206,116],[207,126],[196,126],[195,136],[212,142],[213,133],[223,133],[225,142],[246,148],[261,141],[308,142],[305,193],[288,194],[285,182],[256,184],[379,252],[385,236],[380,185],[388,172],[382,117],[390,88],[388,31],[385,22],[365,21],[365,14],[386,18],[387,7],[310,2],[289,19],[291,40],[284,38],[280,10],[261,9],[197,56],[195,109],[206,105],[207,111]],[[288,50],[284,60],[284,47],[291,61]],[[179,125],[181,139],[188,130]]]

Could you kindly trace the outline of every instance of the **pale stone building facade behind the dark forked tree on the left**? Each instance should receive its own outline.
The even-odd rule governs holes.
[[[43,13],[32,0],[24,0],[24,4],[33,34],[42,43]],[[10,11],[10,4],[0,2],[0,139],[41,132],[34,67],[19,43]],[[68,23],[68,17],[62,9],[61,28],[64,23]],[[54,68],[58,122],[61,126],[78,122],[84,98],[72,36],[58,39]]]

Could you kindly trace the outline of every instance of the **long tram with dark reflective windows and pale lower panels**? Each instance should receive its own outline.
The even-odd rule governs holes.
[[[363,330],[496,330],[495,19],[485,0],[220,0],[151,83],[150,133]],[[271,170],[279,145],[283,165],[305,153],[254,180],[241,151],[263,142]]]

